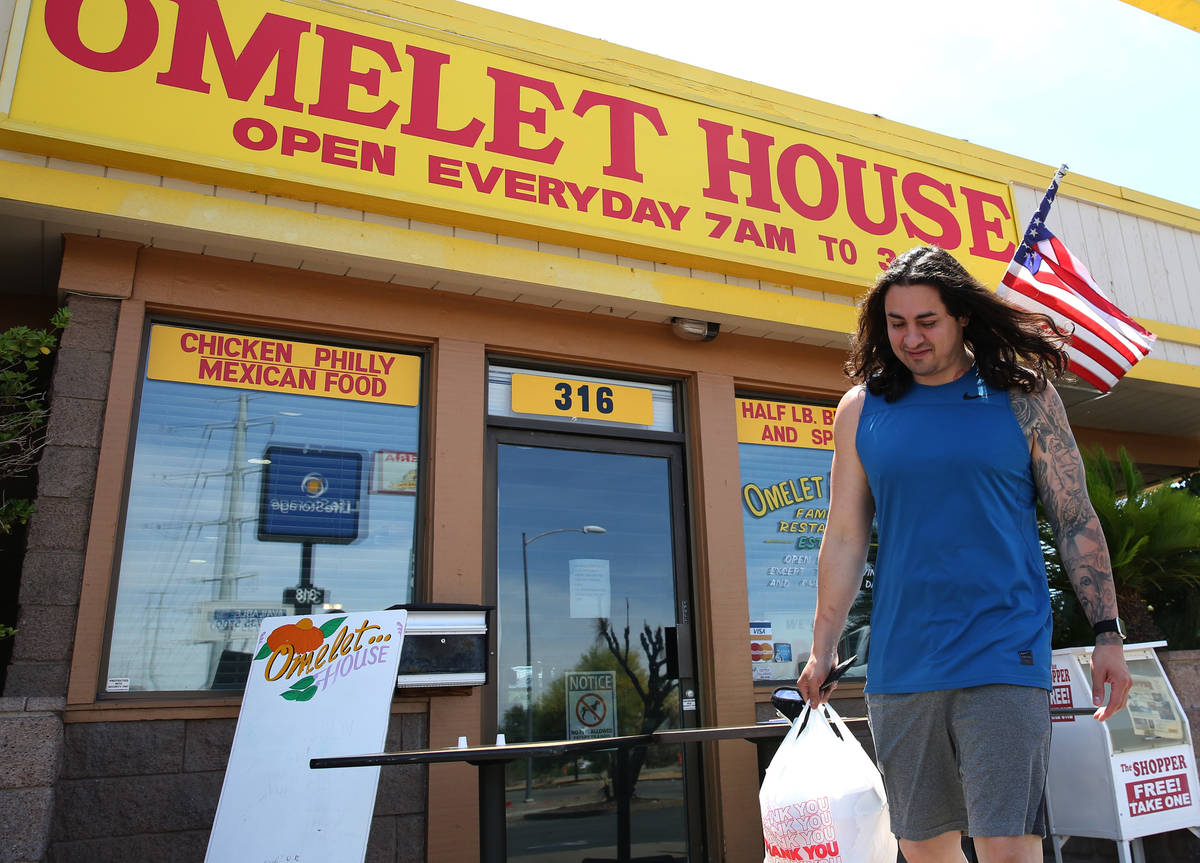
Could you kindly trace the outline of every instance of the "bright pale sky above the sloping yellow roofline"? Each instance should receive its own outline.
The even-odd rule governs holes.
[[[1121,0],[472,2],[1200,208],[1200,32]]]

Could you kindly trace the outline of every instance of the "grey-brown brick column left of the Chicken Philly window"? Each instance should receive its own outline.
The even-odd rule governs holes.
[[[73,295],[50,382],[37,513],[22,567],[18,634],[0,699],[0,863],[44,858],[62,763],[96,462],[116,336],[116,300]]]

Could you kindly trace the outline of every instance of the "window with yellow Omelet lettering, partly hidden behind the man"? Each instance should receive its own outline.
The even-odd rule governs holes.
[[[817,552],[829,514],[833,414],[828,404],[737,398],[742,525],[755,683],[796,682],[812,646]],[[870,580],[839,647],[865,673]]]

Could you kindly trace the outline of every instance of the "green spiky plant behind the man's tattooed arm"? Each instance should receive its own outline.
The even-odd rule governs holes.
[[[1130,641],[1166,639],[1172,647],[1200,646],[1200,497],[1186,489],[1147,489],[1122,447],[1117,471],[1097,448],[1084,453],[1087,495],[1112,559],[1112,580]],[[1070,591],[1050,528],[1040,525],[1046,575],[1054,594],[1055,646],[1093,640]]]

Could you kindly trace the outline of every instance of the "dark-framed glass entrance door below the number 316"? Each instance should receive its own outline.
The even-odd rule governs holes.
[[[694,724],[680,448],[518,430],[493,430],[492,447],[498,730],[516,743]],[[623,790],[628,859],[696,855],[685,748],[634,749],[628,774],[616,767],[613,753],[510,765],[509,859],[625,859]]]

